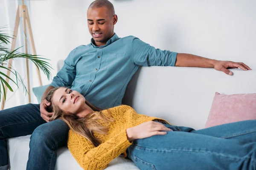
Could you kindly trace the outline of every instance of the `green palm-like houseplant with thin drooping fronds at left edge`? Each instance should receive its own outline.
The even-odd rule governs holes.
[[[11,66],[8,67],[8,60],[9,59],[17,59],[17,58],[27,58],[30,61],[32,61],[35,66],[38,68],[38,70],[43,71],[43,73],[47,76],[48,79],[51,78],[51,65],[49,62],[47,62],[49,59],[45,59],[42,57],[37,57],[38,55],[31,55],[31,54],[24,54],[18,52],[17,49],[11,51],[9,48],[6,48],[5,46],[10,43],[10,37],[11,35],[4,33],[4,28],[6,27],[0,27],[0,99],[2,98],[2,95],[4,95],[4,98],[6,99],[6,87],[13,92],[13,89],[11,85],[9,85],[8,82],[6,82],[6,78],[12,81],[18,88],[19,83],[23,86],[23,91],[27,93],[26,86],[24,85],[23,79],[20,77],[20,74],[15,71],[15,69]],[[14,79],[7,76],[5,73],[7,70],[10,71],[10,74],[13,74],[15,76]]]

